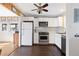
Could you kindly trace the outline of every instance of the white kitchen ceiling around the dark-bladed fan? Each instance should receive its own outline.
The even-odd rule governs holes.
[[[46,7],[48,12],[42,12],[41,14],[32,11],[32,9],[36,8],[33,3],[15,3],[15,6],[22,11],[25,16],[34,17],[58,17],[64,15],[66,11],[66,4],[64,3],[48,3],[48,7]]]

